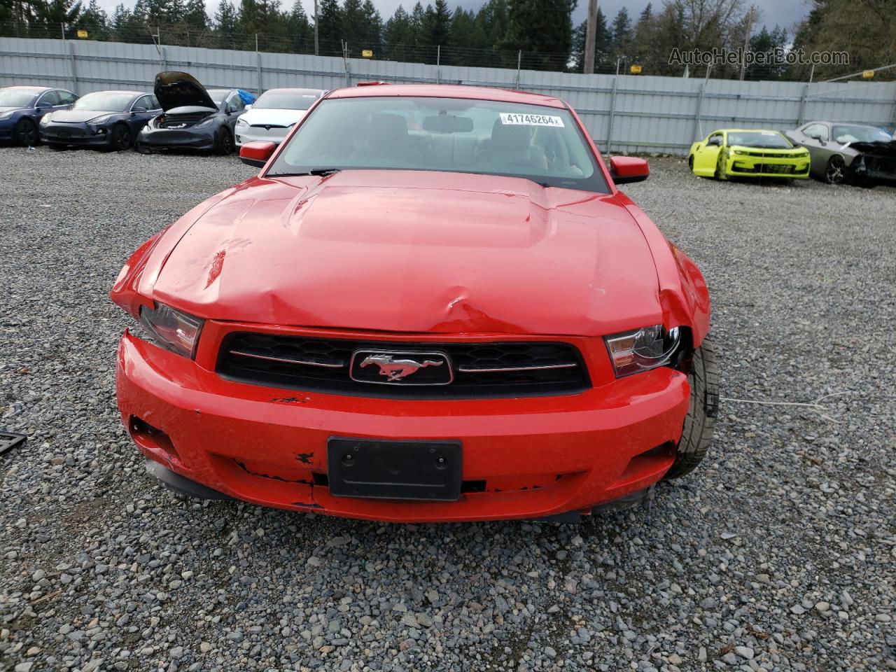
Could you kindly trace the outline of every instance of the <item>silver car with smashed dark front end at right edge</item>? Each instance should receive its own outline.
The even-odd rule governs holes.
[[[896,140],[875,126],[811,121],[785,135],[812,157],[810,173],[831,185],[896,181]]]

